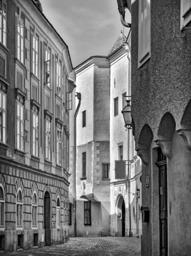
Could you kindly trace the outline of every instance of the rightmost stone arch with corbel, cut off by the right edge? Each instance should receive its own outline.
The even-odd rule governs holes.
[[[186,148],[191,151],[191,100],[185,107],[180,125],[181,129],[177,132],[183,138]]]

